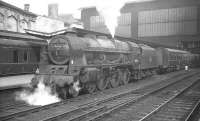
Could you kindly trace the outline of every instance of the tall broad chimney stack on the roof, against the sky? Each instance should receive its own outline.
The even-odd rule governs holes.
[[[48,16],[51,18],[58,18],[58,4],[48,5]]]

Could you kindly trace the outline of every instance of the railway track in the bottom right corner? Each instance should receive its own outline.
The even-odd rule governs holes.
[[[181,92],[159,106],[140,121],[194,121],[200,105],[200,80],[191,88]]]

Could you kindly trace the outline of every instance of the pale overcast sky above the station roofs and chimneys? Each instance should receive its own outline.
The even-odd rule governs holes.
[[[39,15],[48,14],[48,4],[58,3],[59,14],[75,14],[79,17],[79,8],[96,6],[97,4],[115,5],[119,1],[120,4],[127,1],[144,1],[144,0],[3,0],[7,3],[24,8],[24,4],[30,4],[30,11]]]

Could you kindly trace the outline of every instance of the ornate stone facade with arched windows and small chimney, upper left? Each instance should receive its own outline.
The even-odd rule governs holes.
[[[18,8],[6,2],[0,1],[0,30],[24,32],[30,29],[37,15],[29,11],[29,4],[24,9]]]

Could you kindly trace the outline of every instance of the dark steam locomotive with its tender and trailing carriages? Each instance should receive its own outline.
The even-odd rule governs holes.
[[[81,91],[126,85],[156,72],[190,66],[194,54],[187,51],[152,48],[145,44],[117,40],[92,32],[64,30],[48,40],[41,52],[39,70],[31,81],[42,82],[60,97],[75,97]]]

